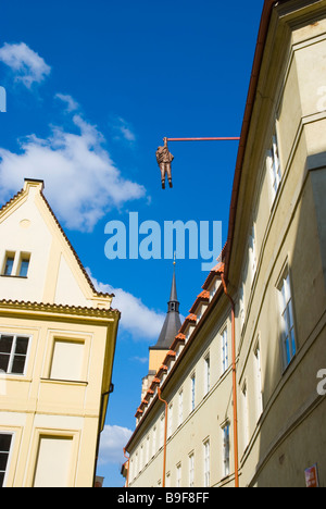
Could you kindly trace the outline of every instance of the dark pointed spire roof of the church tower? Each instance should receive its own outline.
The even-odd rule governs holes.
[[[158,339],[155,349],[168,350],[174,342],[175,336],[178,334],[181,326],[181,320],[179,315],[179,301],[176,291],[176,280],[175,280],[175,262],[171,286],[170,300],[167,302],[167,314]]]

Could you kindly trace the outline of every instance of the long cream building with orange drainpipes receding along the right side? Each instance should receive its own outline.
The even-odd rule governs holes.
[[[137,410],[128,486],[326,485],[325,132],[326,1],[266,0],[227,244]]]

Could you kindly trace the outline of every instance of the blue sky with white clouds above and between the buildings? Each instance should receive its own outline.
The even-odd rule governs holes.
[[[108,260],[108,222],[221,221],[226,240],[237,141],[171,142],[173,189],[161,189],[163,137],[239,136],[263,0],[2,0],[0,204],[24,177],[45,194],[100,289],[123,311],[98,474],[122,486],[121,444],[135,427],[148,347],[166,312],[171,260]],[[62,179],[64,187],[62,187]],[[187,257],[186,257],[187,258]],[[187,315],[206,273],[177,261]]]

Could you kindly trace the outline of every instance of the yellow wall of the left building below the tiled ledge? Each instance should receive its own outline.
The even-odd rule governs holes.
[[[70,468],[65,476],[55,480],[55,458],[47,454],[42,467],[51,469],[50,481],[64,486],[91,486],[96,445],[99,427],[102,377],[106,350],[106,327],[103,324],[87,323],[87,319],[58,319],[45,316],[18,318],[1,312],[1,334],[28,336],[29,345],[25,372],[22,375],[7,375],[2,378],[0,394],[0,433],[14,432],[7,486],[34,486],[41,439],[50,439],[55,452],[57,445],[68,444],[63,455],[68,454]],[[108,324],[106,324],[108,325]],[[54,356],[54,342],[68,342],[70,349],[57,362],[71,364],[62,372],[64,380],[53,377],[51,367]],[[80,371],[76,377],[75,345],[83,348]],[[70,351],[70,358],[66,358]],[[91,355],[90,355],[91,352]],[[54,375],[58,376],[58,373]],[[59,374],[60,376],[60,374]],[[57,442],[58,440],[58,442]],[[57,456],[55,456],[57,457]],[[48,463],[46,463],[46,460]],[[57,457],[57,462],[60,457]],[[52,464],[53,463],[53,464]],[[46,474],[49,472],[46,471]],[[49,485],[49,477],[41,479]]]

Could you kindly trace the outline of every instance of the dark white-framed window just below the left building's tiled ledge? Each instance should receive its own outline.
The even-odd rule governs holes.
[[[29,337],[0,335],[0,370],[8,374],[22,375],[25,372]]]

